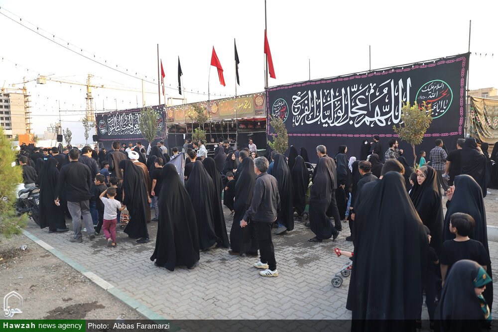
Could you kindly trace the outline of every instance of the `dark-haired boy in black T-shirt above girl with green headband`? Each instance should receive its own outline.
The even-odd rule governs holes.
[[[476,261],[485,270],[490,263],[490,255],[484,245],[469,238],[469,234],[475,225],[476,221],[468,214],[454,213],[450,216],[450,232],[455,234],[455,238],[445,241],[441,249],[441,277],[443,277],[443,284],[453,264],[461,259]]]

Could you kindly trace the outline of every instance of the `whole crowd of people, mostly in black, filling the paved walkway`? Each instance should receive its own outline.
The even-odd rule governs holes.
[[[58,148],[43,153],[34,148],[19,155],[19,164],[25,186],[40,187],[42,228],[67,231],[68,213],[72,242],[82,242],[83,220],[89,239],[103,230],[114,247],[124,211],[129,219],[124,232],[139,243],[149,241],[147,222],[157,221],[150,259],[170,271],[194,268],[200,251],[216,247],[232,255],[259,252],[253,266],[261,276],[276,277],[272,234],[293,231],[308,206],[304,225],[315,235],[309,242],[335,240],[349,222],[346,240],[355,250],[348,255],[353,269],[347,308],[354,320],[365,320],[354,323],[357,327],[377,329],[403,320],[413,322],[411,329],[420,320],[425,294],[431,328],[437,320],[441,331],[453,331],[466,324],[462,320],[478,320],[483,328],[491,320],[483,198],[497,182],[498,149],[495,145],[490,155],[489,146],[479,145],[475,138],[459,139],[448,152],[437,139],[429,156],[420,152],[415,168],[395,138],[384,152],[378,136],[362,141],[358,158],[348,158],[346,145],[334,157],[318,145],[314,167],[304,148],[291,146],[285,157],[268,147],[258,157],[252,140],[243,149],[220,141],[213,157],[203,140],[186,140],[180,176],[170,162],[179,151],[173,148],[169,155],[163,142],[146,151],[140,142],[126,147],[116,141],[108,153],[90,146],[62,154]],[[223,205],[233,217],[230,235]],[[459,323],[451,322],[456,319]]]

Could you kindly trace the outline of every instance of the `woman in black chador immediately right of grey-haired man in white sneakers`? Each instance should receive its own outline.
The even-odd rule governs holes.
[[[277,179],[278,195],[280,196],[280,210],[277,214],[277,221],[287,227],[287,230],[292,230],[294,229],[294,211],[292,208],[294,188],[289,166],[285,162],[283,154],[275,153],[273,155],[273,171],[271,175]]]

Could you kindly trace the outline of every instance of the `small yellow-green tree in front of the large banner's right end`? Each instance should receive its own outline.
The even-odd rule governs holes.
[[[432,108],[430,104],[423,102],[420,105],[410,102],[405,103],[401,108],[401,123],[394,125],[392,129],[402,139],[411,145],[413,150],[413,166],[417,168],[417,154],[415,145],[422,143],[424,134],[429,129],[432,122]]]

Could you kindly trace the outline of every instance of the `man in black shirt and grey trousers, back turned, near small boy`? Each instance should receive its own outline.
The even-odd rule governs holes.
[[[59,206],[62,188],[66,188],[67,208],[73,218],[74,236],[71,242],[83,242],[81,234],[81,218],[85,222],[87,234],[91,240],[95,238],[92,217],[90,216],[90,188],[92,172],[87,165],[78,162],[80,151],[69,151],[69,164],[64,165],[59,173],[59,181],[55,190],[55,205]]]

